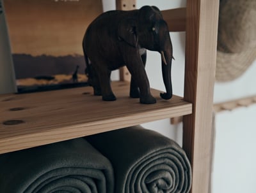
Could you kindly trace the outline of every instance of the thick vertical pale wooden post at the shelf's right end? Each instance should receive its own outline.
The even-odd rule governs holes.
[[[193,103],[193,114],[183,119],[183,148],[193,169],[192,193],[208,192],[211,175],[218,8],[218,0],[187,1],[184,99]]]

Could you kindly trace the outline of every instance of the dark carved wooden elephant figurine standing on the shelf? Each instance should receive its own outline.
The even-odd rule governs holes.
[[[156,6],[143,6],[140,10],[108,11],[88,26],[83,38],[84,58],[88,82],[94,95],[104,101],[116,100],[111,90],[111,71],[124,65],[131,73],[130,97],[140,97],[140,103],[156,103],[150,94],[145,71],[147,50],[161,54],[165,93],[172,97],[172,41],[168,25]]]

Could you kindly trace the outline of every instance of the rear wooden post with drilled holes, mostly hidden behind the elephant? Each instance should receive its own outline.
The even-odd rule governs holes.
[[[136,0],[116,0],[116,10],[128,11],[134,9],[136,9]],[[131,80],[131,74],[126,67],[120,68],[119,73],[121,81]]]

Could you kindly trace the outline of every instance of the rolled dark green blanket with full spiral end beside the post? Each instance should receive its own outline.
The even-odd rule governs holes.
[[[112,163],[116,193],[186,193],[191,166],[175,141],[141,126],[87,136]]]

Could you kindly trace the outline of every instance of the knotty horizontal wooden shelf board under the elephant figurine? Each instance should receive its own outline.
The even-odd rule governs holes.
[[[182,97],[165,101],[152,89],[157,103],[140,104],[129,83],[112,85],[117,100],[110,102],[92,87],[0,96],[0,154],[192,112]]]

